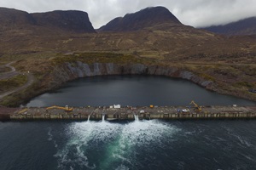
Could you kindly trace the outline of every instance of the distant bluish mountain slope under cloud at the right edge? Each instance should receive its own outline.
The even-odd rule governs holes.
[[[224,26],[210,26],[203,29],[228,36],[256,35],[256,17],[239,20]]]

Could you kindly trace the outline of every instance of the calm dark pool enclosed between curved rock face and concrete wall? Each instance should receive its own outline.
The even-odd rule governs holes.
[[[255,102],[215,94],[195,83],[168,77],[88,77],[32,99],[27,106],[50,105],[256,105]]]

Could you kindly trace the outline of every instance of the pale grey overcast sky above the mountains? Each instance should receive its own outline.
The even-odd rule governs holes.
[[[147,7],[164,6],[184,25],[201,27],[226,24],[256,16],[256,0],[0,0],[0,7],[29,13],[82,10],[99,28],[116,17]]]

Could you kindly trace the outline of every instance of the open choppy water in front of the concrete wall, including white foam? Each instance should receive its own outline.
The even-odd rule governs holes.
[[[1,169],[256,169],[256,121],[0,122]]]

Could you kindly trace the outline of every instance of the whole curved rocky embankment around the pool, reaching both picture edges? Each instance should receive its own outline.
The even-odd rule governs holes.
[[[160,64],[124,64],[124,63],[97,63],[86,64],[75,60],[51,65],[48,72],[44,72],[31,88],[26,91],[12,94],[9,99],[4,99],[1,105],[17,106],[38,94],[43,94],[51,89],[59,88],[61,84],[72,81],[79,77],[95,77],[105,75],[155,75],[176,77],[195,82],[203,88],[220,94],[230,94],[244,99],[255,100],[255,95],[245,93],[244,89],[232,89],[217,77],[202,74],[200,71],[191,70],[183,65],[160,65]],[[234,87],[233,87],[234,88]]]

